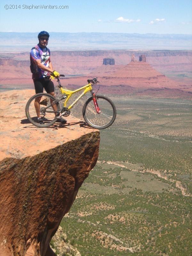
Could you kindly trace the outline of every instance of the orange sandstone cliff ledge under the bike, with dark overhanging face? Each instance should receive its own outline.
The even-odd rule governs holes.
[[[52,236],[97,162],[100,136],[83,121],[37,128],[25,116],[33,90],[0,93],[0,255],[50,256]]]

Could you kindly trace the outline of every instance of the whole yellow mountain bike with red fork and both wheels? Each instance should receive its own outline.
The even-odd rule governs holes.
[[[64,75],[60,75],[64,76]],[[96,78],[88,79],[87,85],[75,90],[65,90],[60,84],[60,79],[57,78],[59,83],[59,88],[62,95],[56,99],[48,93],[37,93],[32,96],[26,105],[25,112],[28,120],[36,125],[37,127],[49,127],[54,124],[58,118],[61,116],[69,116],[70,109],[74,107],[76,102],[80,100],[85,93],[91,92],[92,97],[90,97],[83,106],[83,117],[85,122],[93,128],[105,129],[109,127],[116,118],[116,107],[114,103],[104,95],[97,95],[93,92],[92,86],[99,83]],[[84,90],[82,94],[67,107],[67,102],[69,98],[76,92]],[[39,102],[38,106],[36,101]],[[63,103],[63,107],[60,107],[60,101]],[[44,124],[37,123],[37,114],[41,116]]]

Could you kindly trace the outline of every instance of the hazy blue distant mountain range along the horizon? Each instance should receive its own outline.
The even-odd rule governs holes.
[[[0,52],[29,51],[36,33],[0,32]],[[192,35],[50,32],[52,50],[191,50]]]

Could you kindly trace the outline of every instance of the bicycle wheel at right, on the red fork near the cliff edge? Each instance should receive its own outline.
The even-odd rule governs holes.
[[[93,128],[105,129],[109,127],[116,118],[116,107],[112,100],[103,95],[96,95],[100,113],[97,113],[92,97],[89,98],[83,107],[85,122]]]

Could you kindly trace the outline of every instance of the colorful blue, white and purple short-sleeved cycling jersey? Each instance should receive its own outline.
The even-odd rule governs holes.
[[[41,68],[38,68],[38,66],[35,64],[34,60],[41,60],[41,63],[49,68],[49,62],[50,60],[50,51],[47,47],[42,48],[39,44],[35,46],[35,49],[31,49],[30,52],[30,59],[34,67],[34,74],[32,75],[32,78],[43,78],[45,76],[50,76],[50,73],[47,71],[42,70]]]

